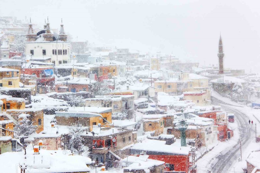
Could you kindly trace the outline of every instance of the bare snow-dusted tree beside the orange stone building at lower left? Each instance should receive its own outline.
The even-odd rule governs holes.
[[[17,135],[20,137],[29,136],[36,131],[37,125],[33,125],[31,120],[26,116],[15,125],[14,130],[17,131]]]

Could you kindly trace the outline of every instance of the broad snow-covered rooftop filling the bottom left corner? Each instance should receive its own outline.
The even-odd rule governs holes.
[[[1,171],[16,172],[16,165],[24,163],[27,165],[26,172],[28,173],[86,172],[90,171],[86,165],[92,163],[88,157],[51,154],[50,151],[44,149],[40,150],[39,155],[33,155],[33,153],[32,145],[29,145],[26,149],[26,159],[24,159],[24,152],[1,154]],[[6,162],[6,160],[12,161]]]

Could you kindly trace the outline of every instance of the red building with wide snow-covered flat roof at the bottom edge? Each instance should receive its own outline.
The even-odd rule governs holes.
[[[189,171],[190,147],[166,145],[165,141],[145,139],[130,148],[131,155],[146,152],[149,159],[165,162],[165,171]]]

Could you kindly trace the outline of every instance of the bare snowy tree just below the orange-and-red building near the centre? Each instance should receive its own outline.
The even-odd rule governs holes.
[[[103,81],[91,84],[89,86],[89,91],[94,95],[105,95],[110,91],[110,89],[108,88],[107,82]]]

